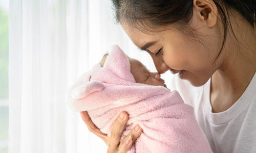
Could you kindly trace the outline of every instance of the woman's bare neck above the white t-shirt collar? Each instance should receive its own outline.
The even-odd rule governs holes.
[[[234,19],[233,32],[227,36],[222,64],[211,77],[212,112],[230,108],[246,90],[256,70],[256,32],[241,19]],[[232,21],[230,21],[232,23]]]

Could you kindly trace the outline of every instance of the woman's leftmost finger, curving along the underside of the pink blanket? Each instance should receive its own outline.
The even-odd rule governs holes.
[[[100,137],[106,144],[109,142],[109,137],[106,134],[103,134],[98,127],[93,123],[90,116],[88,115],[87,111],[80,112],[82,120],[86,123],[88,130],[94,133],[96,136]]]

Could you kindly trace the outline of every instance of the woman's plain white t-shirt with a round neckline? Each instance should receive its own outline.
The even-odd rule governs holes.
[[[212,151],[256,152],[256,73],[236,103],[220,113],[211,111],[210,79],[205,85],[194,87],[173,75],[170,89],[177,90],[184,102],[194,107]]]

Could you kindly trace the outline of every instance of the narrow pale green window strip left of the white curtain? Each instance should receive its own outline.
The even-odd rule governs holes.
[[[9,2],[0,1],[0,153],[8,152],[8,14]]]

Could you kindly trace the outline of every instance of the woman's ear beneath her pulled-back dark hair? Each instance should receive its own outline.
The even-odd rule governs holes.
[[[209,28],[214,27],[218,19],[218,8],[212,0],[194,0],[193,1],[194,13],[205,21]]]

